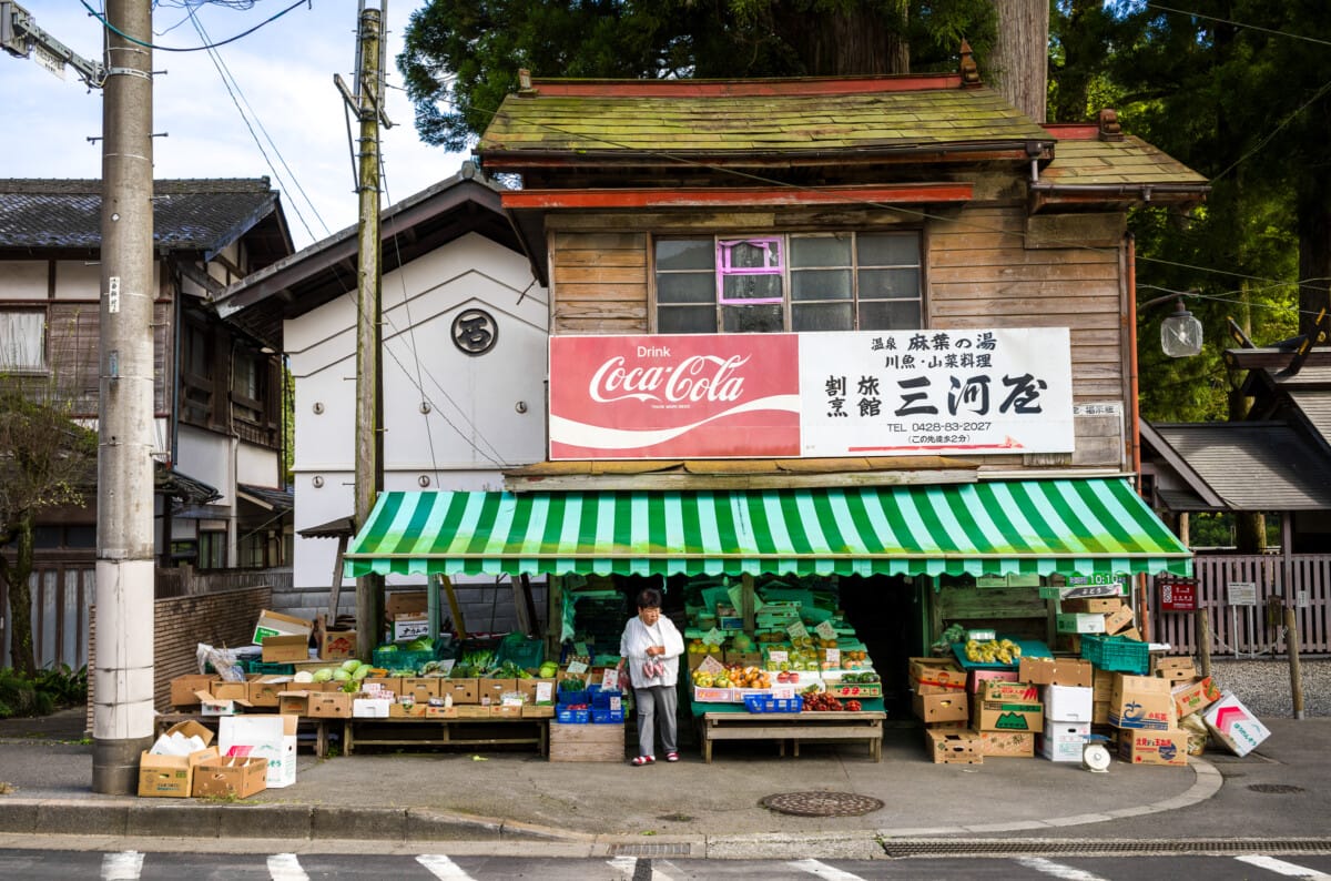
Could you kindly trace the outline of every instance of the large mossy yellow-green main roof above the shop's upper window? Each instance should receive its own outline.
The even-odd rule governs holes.
[[[562,80],[506,97],[478,152],[724,156],[1050,140],[1001,94],[957,77]]]

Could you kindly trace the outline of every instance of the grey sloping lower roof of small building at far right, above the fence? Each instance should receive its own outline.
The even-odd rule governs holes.
[[[1234,511],[1331,511],[1331,459],[1283,422],[1154,427]]]

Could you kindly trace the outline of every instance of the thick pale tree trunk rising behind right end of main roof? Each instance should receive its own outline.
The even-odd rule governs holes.
[[[998,40],[992,63],[980,68],[980,77],[993,83],[1018,110],[1044,122],[1049,97],[1049,3],[994,0],[994,9]]]

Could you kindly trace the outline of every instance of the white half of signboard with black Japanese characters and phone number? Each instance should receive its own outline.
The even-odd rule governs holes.
[[[1070,452],[1070,334],[800,334],[800,407],[807,456]]]

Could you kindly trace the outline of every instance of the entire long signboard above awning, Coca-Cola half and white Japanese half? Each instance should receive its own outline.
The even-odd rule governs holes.
[[[550,338],[551,459],[1073,446],[1066,327]]]

